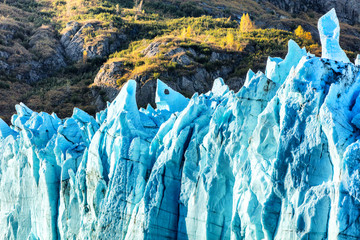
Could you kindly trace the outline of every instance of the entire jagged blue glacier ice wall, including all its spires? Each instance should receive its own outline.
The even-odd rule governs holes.
[[[129,81],[96,120],[20,104],[0,120],[2,239],[359,239],[360,67],[295,42],[266,74],[186,99]]]

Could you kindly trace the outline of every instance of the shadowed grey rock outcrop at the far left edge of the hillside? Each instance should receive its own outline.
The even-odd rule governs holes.
[[[6,21],[5,21],[6,22]],[[0,74],[34,83],[64,68],[64,50],[49,26],[30,32],[23,24],[0,23]],[[28,45],[22,41],[28,39]]]

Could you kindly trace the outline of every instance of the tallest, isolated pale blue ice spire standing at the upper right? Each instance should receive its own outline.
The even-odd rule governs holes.
[[[349,63],[349,58],[339,44],[340,24],[335,9],[331,9],[319,19],[318,29],[322,45],[322,58]]]

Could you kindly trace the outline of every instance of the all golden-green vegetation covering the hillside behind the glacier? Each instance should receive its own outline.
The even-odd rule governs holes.
[[[259,4],[253,0],[145,0],[140,6],[141,2],[7,0],[6,4],[0,3],[0,25],[6,26],[0,28],[0,51],[11,54],[6,59],[8,63],[52,56],[55,43],[67,30],[69,21],[92,24],[83,31],[86,46],[96,46],[117,33],[127,37],[121,49],[110,56],[91,60],[84,51],[82,61],[70,64],[35,85],[20,82],[15,74],[0,73],[0,95],[4,99],[0,99],[0,109],[23,101],[34,110],[56,111],[60,117],[71,115],[74,106],[94,113],[92,83],[100,67],[113,61],[123,63],[123,74],[117,79],[117,85],[121,86],[136,76],[156,79],[171,74],[192,75],[198,67],[211,71],[227,64],[235,66],[231,77],[243,77],[249,68],[263,71],[269,55],[284,57],[289,39],[294,39],[316,55],[321,54],[321,48],[311,34],[302,27],[296,29],[298,26],[308,29],[306,25],[309,24],[316,26],[319,15],[313,12],[292,18],[291,14],[275,9],[271,4]],[[247,14],[243,15],[244,12]],[[239,21],[241,15],[243,19]],[[281,20],[280,15],[283,17]],[[292,31],[262,29],[254,25],[264,21],[273,23],[273,26],[286,26]],[[342,29],[351,32],[360,28],[343,25]],[[9,41],[7,36],[13,30],[15,34]],[[342,36],[344,46],[353,46],[351,44],[357,41],[354,36]],[[159,53],[145,56],[144,50],[155,42],[161,44]],[[178,64],[166,55],[179,47],[185,49],[185,54],[193,60],[190,64]],[[196,56],[191,50],[197,53]],[[354,58],[356,53],[350,50],[347,54]],[[210,61],[213,52],[240,56],[240,60]],[[17,73],[26,71],[29,71],[28,65],[18,64]],[[104,91],[99,93],[105,96]],[[6,111],[9,116],[13,107]],[[5,113],[0,112],[0,115]]]

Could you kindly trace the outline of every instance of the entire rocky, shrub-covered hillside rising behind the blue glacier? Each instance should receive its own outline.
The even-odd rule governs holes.
[[[9,122],[18,102],[60,117],[70,116],[74,106],[93,114],[128,79],[138,83],[140,106],[154,104],[157,78],[188,97],[208,91],[218,76],[238,90],[248,68],[264,70],[268,55],[284,57],[289,39],[321,53],[316,19],[323,9],[310,1],[307,8],[254,0],[154,0],[142,9],[135,3],[0,3],[0,117]],[[349,18],[341,17],[341,45],[354,59],[360,49],[357,10],[347,14],[340,6],[340,17]],[[246,34],[239,32],[245,12],[257,27]],[[313,39],[294,34],[299,25]]]

